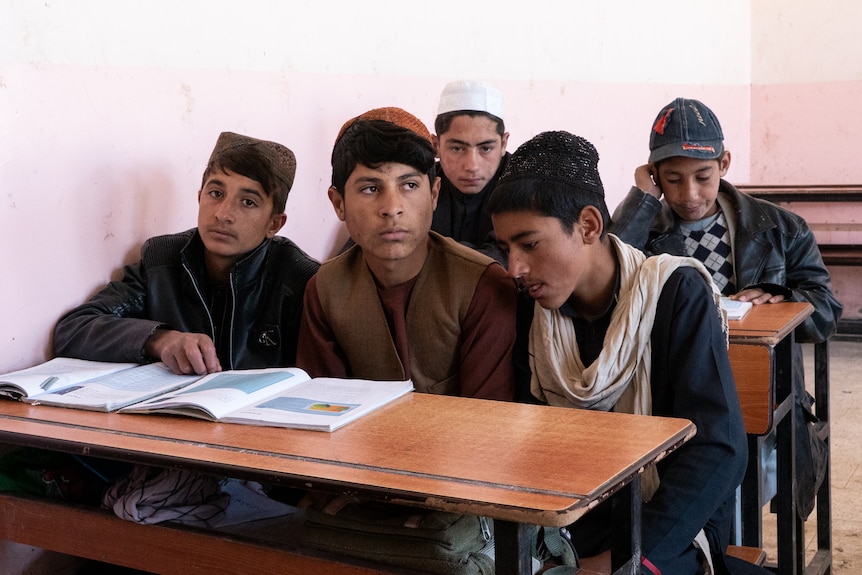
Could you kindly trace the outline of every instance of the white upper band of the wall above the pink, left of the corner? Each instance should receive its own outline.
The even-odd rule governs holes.
[[[0,62],[32,67],[632,84],[750,77],[749,0],[2,0],[0,10]]]

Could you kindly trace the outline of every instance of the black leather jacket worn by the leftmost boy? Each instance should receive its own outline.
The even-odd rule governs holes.
[[[230,350],[219,350],[224,369],[295,364],[302,296],[318,266],[280,236],[234,264]],[[158,327],[214,338],[208,289],[196,229],[150,238],[141,248],[141,261],[126,266],[121,281],[60,318],[54,354],[145,362],[152,358],[144,357],[144,342]]]

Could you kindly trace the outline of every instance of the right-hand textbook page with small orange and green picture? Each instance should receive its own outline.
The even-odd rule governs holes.
[[[222,421],[332,431],[412,390],[411,381],[318,377]]]

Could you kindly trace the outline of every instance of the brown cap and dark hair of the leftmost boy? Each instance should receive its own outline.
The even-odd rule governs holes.
[[[214,172],[230,170],[250,178],[272,198],[272,214],[284,213],[296,174],[296,157],[275,142],[222,132],[201,178],[201,189]]]

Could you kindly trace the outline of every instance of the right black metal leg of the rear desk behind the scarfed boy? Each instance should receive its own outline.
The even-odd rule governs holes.
[[[782,575],[801,575],[805,565],[803,526],[796,512],[796,397],[793,382],[793,334],[775,348],[776,400],[792,398],[789,413],[778,423],[777,461],[777,535],[778,571]],[[800,446],[803,447],[804,446]]]

